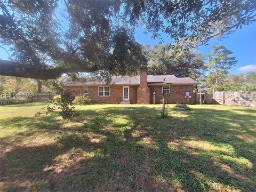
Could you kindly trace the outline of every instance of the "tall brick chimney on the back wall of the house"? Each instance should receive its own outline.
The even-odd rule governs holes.
[[[137,103],[149,104],[149,87],[147,84],[147,67],[142,66],[140,68],[140,86],[137,90]]]

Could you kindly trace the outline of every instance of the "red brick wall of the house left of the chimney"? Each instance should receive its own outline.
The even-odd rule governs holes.
[[[91,103],[121,103],[123,101],[123,86],[109,85],[110,96],[109,97],[99,97],[98,86],[88,86],[89,93],[85,94],[91,99]],[[129,86],[129,96],[131,103],[137,103],[137,86]],[[69,91],[74,96],[84,94],[84,86],[64,86],[65,90]]]

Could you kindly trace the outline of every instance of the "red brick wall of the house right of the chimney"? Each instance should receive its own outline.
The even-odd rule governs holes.
[[[161,103],[163,98],[162,85],[149,85],[150,89],[150,103],[153,103],[154,97],[153,93],[155,91],[155,103]],[[193,85],[170,85],[170,94],[166,94],[167,103],[183,102],[186,98],[186,91],[189,91],[191,98],[189,98],[189,103],[192,104],[195,101],[195,94],[193,93]]]

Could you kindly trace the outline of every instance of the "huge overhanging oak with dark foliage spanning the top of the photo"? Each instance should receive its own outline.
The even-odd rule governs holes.
[[[134,27],[145,26],[154,38],[163,31],[175,42],[194,46],[249,25],[255,10],[254,0],[2,0],[0,43],[12,53],[0,61],[0,75],[130,75],[146,65]]]

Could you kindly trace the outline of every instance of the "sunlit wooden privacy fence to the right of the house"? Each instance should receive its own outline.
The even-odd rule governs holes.
[[[238,105],[256,107],[256,92],[252,91],[215,91],[202,95],[205,104]],[[200,93],[196,93],[196,103],[200,103]]]

